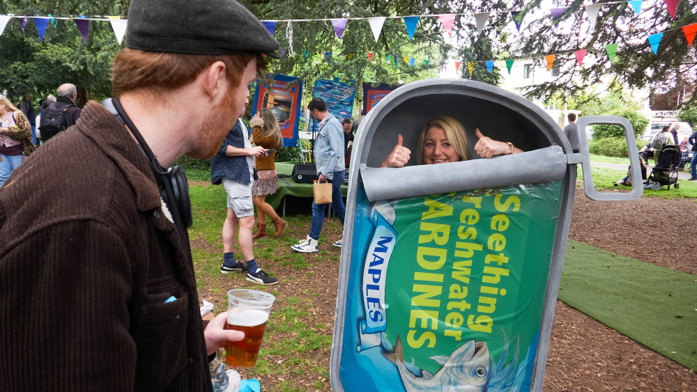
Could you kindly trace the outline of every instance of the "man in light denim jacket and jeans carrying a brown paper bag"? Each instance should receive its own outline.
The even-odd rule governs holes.
[[[344,182],[344,130],[339,120],[327,111],[327,104],[321,98],[315,98],[307,104],[309,115],[319,121],[319,132],[314,141],[314,163],[319,179],[317,182],[332,182],[332,208],[344,224],[346,207],[342,198],[342,183]],[[319,233],[324,223],[326,205],[312,202],[312,228],[307,238],[291,246],[293,251],[311,253],[317,251]],[[342,247],[343,240],[334,242],[334,246]]]

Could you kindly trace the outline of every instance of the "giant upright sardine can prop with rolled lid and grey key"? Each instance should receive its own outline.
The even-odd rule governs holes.
[[[421,128],[449,116],[474,146],[479,128],[525,151],[417,165]],[[464,79],[426,79],[362,118],[348,171],[332,341],[334,391],[541,391],[577,167],[596,200],[633,200],[592,184],[585,116],[574,153],[560,126],[519,95]],[[402,168],[381,168],[397,142]],[[471,147],[470,147],[471,148]]]

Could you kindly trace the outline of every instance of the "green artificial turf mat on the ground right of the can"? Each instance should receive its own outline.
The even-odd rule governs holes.
[[[697,370],[697,276],[569,240],[557,297]]]

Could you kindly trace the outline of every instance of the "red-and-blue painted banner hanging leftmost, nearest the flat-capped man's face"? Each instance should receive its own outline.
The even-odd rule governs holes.
[[[252,113],[262,108],[273,111],[278,120],[284,147],[295,147],[298,144],[300,97],[302,81],[286,75],[267,75],[263,82],[257,80],[254,88]]]

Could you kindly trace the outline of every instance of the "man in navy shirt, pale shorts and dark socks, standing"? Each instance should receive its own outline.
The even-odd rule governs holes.
[[[227,217],[222,226],[223,263],[220,272],[229,274],[247,271],[247,281],[260,285],[275,285],[278,279],[268,276],[256,265],[252,251],[254,157],[264,155],[266,150],[261,146],[252,147],[249,135],[250,132],[242,119],[237,120],[225,136],[215,157],[210,159],[210,179],[213,185],[222,184],[227,193]],[[238,241],[246,265],[235,260],[233,254],[238,228]]]

